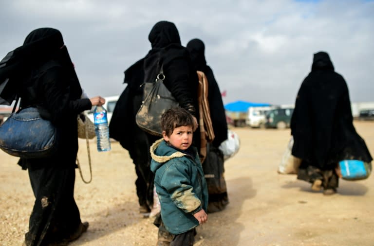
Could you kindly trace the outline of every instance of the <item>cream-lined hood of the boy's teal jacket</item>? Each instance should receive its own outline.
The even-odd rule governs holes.
[[[150,170],[154,173],[165,162],[186,156],[186,154],[169,147],[164,139],[159,139],[150,146],[150,156],[154,160],[150,164]]]

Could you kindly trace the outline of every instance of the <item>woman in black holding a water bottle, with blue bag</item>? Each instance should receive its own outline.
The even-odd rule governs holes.
[[[39,28],[22,46],[8,53],[0,66],[0,82],[9,79],[20,108],[36,106],[40,116],[55,124],[58,150],[48,158],[19,159],[27,169],[35,204],[24,246],[67,245],[88,228],[81,222],[74,199],[75,160],[78,151],[77,115],[102,105],[105,99],[80,99],[82,89],[61,33]]]

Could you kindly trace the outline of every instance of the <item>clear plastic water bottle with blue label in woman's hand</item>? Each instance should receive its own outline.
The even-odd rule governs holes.
[[[107,110],[103,106],[96,106],[93,110],[93,123],[97,137],[97,151],[111,150]]]

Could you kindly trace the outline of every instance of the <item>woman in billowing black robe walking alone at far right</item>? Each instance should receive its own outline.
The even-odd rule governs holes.
[[[365,141],[353,125],[344,78],[335,72],[326,52],[314,54],[312,70],[301,83],[291,118],[292,155],[301,158],[298,179],[312,190],[337,192],[337,165],[343,159],[371,162]]]

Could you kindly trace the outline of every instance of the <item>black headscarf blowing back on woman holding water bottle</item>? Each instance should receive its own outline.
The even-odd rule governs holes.
[[[11,104],[23,78],[51,59],[58,61],[70,75],[73,91],[81,93],[82,89],[61,33],[54,28],[38,28],[26,36],[22,46],[9,52],[1,60],[0,104]]]

